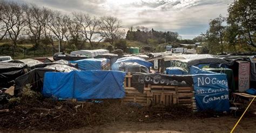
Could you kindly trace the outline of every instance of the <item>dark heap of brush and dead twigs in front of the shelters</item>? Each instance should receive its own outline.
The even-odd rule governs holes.
[[[43,98],[27,85],[19,97],[1,107],[2,130],[68,130],[120,121],[157,122],[196,117],[182,106],[165,108],[124,105],[120,99],[90,102]]]

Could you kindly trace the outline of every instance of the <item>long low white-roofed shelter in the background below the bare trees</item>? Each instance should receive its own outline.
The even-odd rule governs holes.
[[[95,50],[77,50],[71,51],[70,56],[90,56],[95,57],[100,54],[107,54],[109,50],[106,49],[95,49]]]

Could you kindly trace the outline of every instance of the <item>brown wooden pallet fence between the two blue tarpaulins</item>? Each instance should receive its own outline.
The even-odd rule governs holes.
[[[131,85],[132,75],[125,76],[124,88],[126,96],[124,103],[136,102],[142,106],[184,105],[196,110],[193,86],[171,86],[144,84],[144,92],[140,93]]]

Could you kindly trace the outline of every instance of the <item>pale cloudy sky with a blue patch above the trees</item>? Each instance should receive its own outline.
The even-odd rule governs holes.
[[[145,26],[157,31],[178,32],[182,39],[205,33],[211,19],[227,16],[233,0],[9,0],[32,3],[63,13],[84,12],[91,16],[113,16],[122,28]]]

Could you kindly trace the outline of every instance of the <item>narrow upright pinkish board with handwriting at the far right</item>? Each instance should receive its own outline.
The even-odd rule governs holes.
[[[250,88],[250,62],[238,62],[238,90],[244,92]]]

